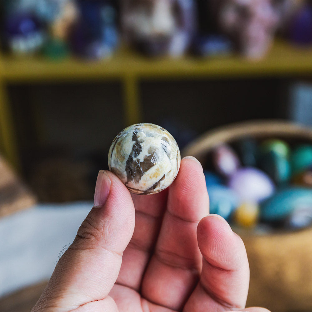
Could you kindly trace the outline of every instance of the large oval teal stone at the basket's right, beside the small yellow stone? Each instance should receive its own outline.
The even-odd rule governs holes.
[[[297,209],[312,207],[312,190],[289,187],[276,192],[261,205],[261,220],[276,222],[284,220]]]

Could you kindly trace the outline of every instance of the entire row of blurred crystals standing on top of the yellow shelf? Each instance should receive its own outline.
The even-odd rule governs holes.
[[[146,56],[238,52],[257,60],[276,36],[312,43],[309,1],[16,0],[0,2],[0,9],[4,49],[53,59],[102,59],[125,46]]]

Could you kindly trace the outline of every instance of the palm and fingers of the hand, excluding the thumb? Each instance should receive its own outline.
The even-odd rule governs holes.
[[[198,164],[184,160],[168,190],[132,199],[134,234],[110,292],[119,310],[244,308],[249,270],[241,241],[216,217],[203,219],[197,233],[209,213]]]

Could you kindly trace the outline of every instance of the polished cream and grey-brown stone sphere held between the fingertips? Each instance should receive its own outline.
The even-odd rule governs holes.
[[[133,124],[114,139],[108,166],[135,194],[167,188],[180,168],[181,156],[173,136],[156,124]]]

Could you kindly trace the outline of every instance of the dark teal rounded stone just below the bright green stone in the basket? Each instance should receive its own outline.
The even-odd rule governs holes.
[[[287,158],[270,151],[261,159],[261,168],[276,184],[284,185],[291,176],[290,162]]]

